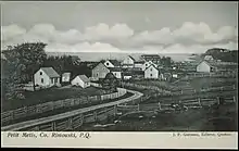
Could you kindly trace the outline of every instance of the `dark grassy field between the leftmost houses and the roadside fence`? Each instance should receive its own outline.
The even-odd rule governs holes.
[[[1,112],[49,101],[78,98],[83,96],[98,96],[103,92],[103,90],[95,87],[88,87],[85,89],[80,87],[48,88],[38,91],[24,91],[23,95],[25,96],[25,99],[23,100],[2,100]]]

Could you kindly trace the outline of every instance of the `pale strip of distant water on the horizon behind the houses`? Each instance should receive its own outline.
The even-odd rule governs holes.
[[[47,52],[48,55],[78,55],[81,61],[100,61],[106,59],[124,60],[127,55],[131,55],[136,60],[140,60],[143,53],[108,53],[108,52]],[[155,53],[152,53],[155,54]],[[160,56],[171,56],[173,61],[180,62],[189,59],[190,53],[162,53]]]

